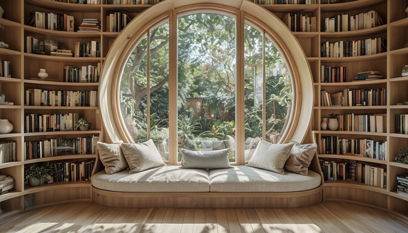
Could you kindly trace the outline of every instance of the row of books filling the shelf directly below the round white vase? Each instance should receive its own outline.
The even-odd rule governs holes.
[[[24,106],[97,107],[98,91],[24,91]]]

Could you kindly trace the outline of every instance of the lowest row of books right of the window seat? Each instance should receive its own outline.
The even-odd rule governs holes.
[[[324,180],[353,180],[387,189],[387,169],[369,162],[319,159]]]

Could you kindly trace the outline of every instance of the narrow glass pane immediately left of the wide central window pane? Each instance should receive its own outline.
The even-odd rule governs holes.
[[[150,138],[169,160],[169,23],[150,31]]]

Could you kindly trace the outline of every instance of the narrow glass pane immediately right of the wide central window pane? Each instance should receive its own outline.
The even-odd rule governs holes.
[[[248,161],[263,138],[263,34],[245,24],[245,161]]]

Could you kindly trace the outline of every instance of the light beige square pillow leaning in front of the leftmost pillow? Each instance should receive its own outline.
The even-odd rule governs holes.
[[[129,173],[166,165],[151,139],[143,143],[122,143],[121,147],[129,164]]]

